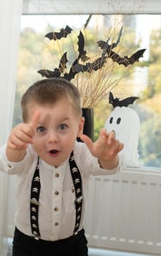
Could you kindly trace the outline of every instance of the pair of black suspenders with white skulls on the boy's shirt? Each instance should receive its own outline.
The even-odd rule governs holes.
[[[75,189],[75,207],[76,207],[76,221],[74,227],[74,235],[78,233],[81,214],[82,214],[82,178],[79,169],[74,160],[74,154],[71,152],[69,159],[69,165],[71,170],[71,177],[74,183]],[[39,157],[34,172],[34,176],[31,183],[31,202],[30,202],[30,217],[31,217],[31,232],[34,238],[40,238],[39,232],[39,195],[40,195],[40,176],[39,176]]]

